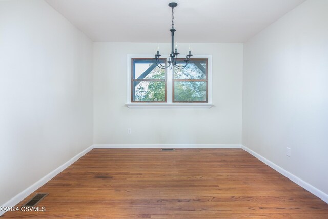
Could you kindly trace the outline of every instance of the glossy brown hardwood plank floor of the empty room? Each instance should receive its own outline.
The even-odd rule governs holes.
[[[93,149],[3,217],[328,218],[328,204],[242,149]]]

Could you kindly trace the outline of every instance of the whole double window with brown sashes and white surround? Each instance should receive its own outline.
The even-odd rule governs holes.
[[[167,56],[162,56],[165,64]],[[211,64],[209,55],[192,58],[184,69],[161,69],[153,55],[128,55],[128,100],[130,108],[210,108]],[[178,59],[182,65],[183,59]]]

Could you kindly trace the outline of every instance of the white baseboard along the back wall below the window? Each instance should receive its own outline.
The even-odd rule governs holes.
[[[103,144],[94,148],[241,148],[241,145],[222,144]]]

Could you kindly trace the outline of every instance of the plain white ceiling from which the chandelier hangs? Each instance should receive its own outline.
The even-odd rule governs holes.
[[[93,41],[170,42],[174,0],[46,0]],[[176,0],[178,42],[242,43],[304,0]]]

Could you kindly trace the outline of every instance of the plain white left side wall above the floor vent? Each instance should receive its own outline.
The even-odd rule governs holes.
[[[92,145],[92,50],[44,1],[0,1],[0,204]]]

